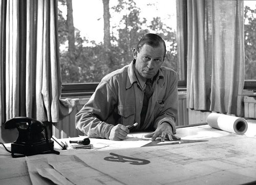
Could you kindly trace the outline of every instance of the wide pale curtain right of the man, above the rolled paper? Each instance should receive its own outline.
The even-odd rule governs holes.
[[[187,1],[187,107],[243,116],[243,1]]]

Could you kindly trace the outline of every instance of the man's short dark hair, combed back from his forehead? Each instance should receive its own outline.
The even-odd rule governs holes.
[[[148,44],[151,47],[156,48],[156,47],[159,47],[161,45],[161,43],[163,43],[163,46],[164,46],[164,57],[165,57],[165,54],[166,54],[165,42],[162,39],[162,37],[160,37],[159,35],[154,34],[154,33],[148,33],[148,34],[144,35],[140,39],[140,41],[137,45],[137,50],[138,50],[138,52],[140,52],[140,49],[141,49],[141,47],[143,47],[144,44]]]

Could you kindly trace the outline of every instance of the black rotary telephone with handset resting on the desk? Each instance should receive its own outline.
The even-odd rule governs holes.
[[[5,129],[12,128],[18,130],[18,138],[11,144],[12,157],[46,153],[59,154],[58,151],[54,150],[54,142],[48,139],[48,132],[44,123],[32,118],[15,117],[5,122]]]

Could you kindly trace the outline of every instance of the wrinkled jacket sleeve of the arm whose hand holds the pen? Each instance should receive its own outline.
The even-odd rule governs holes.
[[[102,80],[88,103],[76,114],[76,129],[89,137],[109,139],[114,125],[103,120],[106,120],[113,112],[116,100],[113,88],[107,81]]]

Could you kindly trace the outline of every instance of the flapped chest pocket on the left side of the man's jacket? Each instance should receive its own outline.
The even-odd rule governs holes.
[[[135,106],[118,106],[118,114],[121,116],[120,124],[127,126],[135,122]]]

